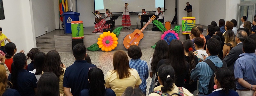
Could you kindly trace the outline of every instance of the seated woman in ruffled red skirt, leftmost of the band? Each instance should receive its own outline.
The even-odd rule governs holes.
[[[106,20],[101,18],[101,15],[99,11],[95,12],[95,26],[94,26],[94,31],[92,32],[103,32],[104,24],[106,23]]]

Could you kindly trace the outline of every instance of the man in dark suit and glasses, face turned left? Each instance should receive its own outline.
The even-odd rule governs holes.
[[[236,47],[232,48],[228,55],[223,59],[227,63],[227,67],[231,68],[234,71],[234,64],[237,58],[239,57],[240,54],[244,53],[243,52],[243,42],[245,39],[247,39],[247,33],[243,30],[239,30],[236,33],[235,40],[236,40]]]

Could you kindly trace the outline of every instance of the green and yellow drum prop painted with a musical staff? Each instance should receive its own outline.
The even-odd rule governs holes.
[[[182,18],[182,34],[190,34],[191,29],[196,27],[196,18],[195,17],[183,17]]]

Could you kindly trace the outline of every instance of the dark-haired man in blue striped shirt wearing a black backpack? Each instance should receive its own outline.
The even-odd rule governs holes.
[[[208,57],[205,60],[210,59],[215,66],[222,67],[222,61],[217,56],[220,51],[220,42],[215,39],[211,38],[207,41],[206,45],[206,53],[208,54]],[[193,80],[199,80],[198,84],[198,96],[206,96],[208,93],[208,85],[210,83],[211,76],[214,74],[214,71],[211,69],[211,67],[205,63],[200,62],[196,65],[196,68],[191,70],[191,79]]]

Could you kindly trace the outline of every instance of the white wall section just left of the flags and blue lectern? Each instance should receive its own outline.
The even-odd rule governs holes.
[[[35,26],[35,36],[41,36],[56,29],[53,0],[31,0]],[[57,0],[55,0],[57,1]]]

